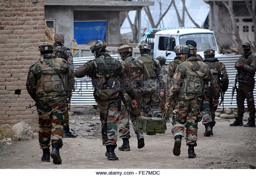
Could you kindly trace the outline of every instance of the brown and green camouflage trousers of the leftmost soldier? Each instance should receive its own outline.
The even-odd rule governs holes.
[[[38,138],[41,149],[50,148],[52,144],[59,143],[62,146],[63,117],[66,110],[65,104],[53,106],[36,105],[39,115]]]

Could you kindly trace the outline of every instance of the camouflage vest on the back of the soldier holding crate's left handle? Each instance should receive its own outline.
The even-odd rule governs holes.
[[[106,69],[103,59],[108,67]],[[117,99],[117,91],[114,87],[119,85],[118,80],[118,60],[112,58],[111,56],[101,56],[94,60],[94,65],[96,67],[95,74],[92,78],[92,84],[94,86],[94,98],[96,100],[109,100]],[[121,67],[121,66],[120,66]],[[111,76],[109,75],[110,72]],[[114,83],[115,82],[115,83]]]

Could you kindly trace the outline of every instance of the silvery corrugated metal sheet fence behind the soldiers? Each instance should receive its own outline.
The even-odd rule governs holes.
[[[119,55],[111,55],[114,58],[118,58]],[[219,61],[224,63],[226,66],[227,72],[228,72],[228,78],[229,78],[229,85],[228,90],[226,91],[224,95],[224,108],[237,108],[236,106],[236,92],[233,96],[233,102],[232,105],[231,102],[231,93],[232,93],[232,86],[234,82],[234,77],[236,75],[236,69],[234,68],[234,64],[236,60],[240,57],[240,55],[226,55],[219,57]],[[74,58],[74,68],[77,69],[79,66],[84,65],[87,61],[94,59],[94,57],[77,57]],[[118,59],[119,61],[120,58]],[[170,63],[172,60],[167,59],[166,63]],[[72,101],[71,104],[76,105],[94,105],[96,104],[94,97],[93,97],[93,91],[94,88],[92,87],[91,79],[88,77],[83,78],[75,78],[76,79],[76,91],[78,91],[80,88],[82,88],[82,95],[79,95],[77,92],[73,92]],[[255,77],[256,79],[256,77]],[[256,89],[254,89],[254,94],[256,94]],[[246,101],[245,101],[246,102]],[[247,104],[245,103],[245,107],[247,107]],[[222,105],[218,106],[218,108],[222,108]]]

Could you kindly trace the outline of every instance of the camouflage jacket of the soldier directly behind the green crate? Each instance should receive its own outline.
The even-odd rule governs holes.
[[[150,79],[148,81],[144,81],[144,87],[143,87],[144,93],[154,92],[154,91],[164,89],[165,85],[164,85],[164,81],[163,81],[163,72],[162,72],[159,60],[154,58],[154,57],[151,57],[148,54],[144,54],[141,57],[138,57],[138,59],[142,60],[143,63],[144,63],[146,57],[151,58],[151,61],[153,62],[152,71],[154,73],[154,77],[150,77]],[[150,70],[148,68],[147,68],[147,70],[148,70],[148,73],[149,73]]]

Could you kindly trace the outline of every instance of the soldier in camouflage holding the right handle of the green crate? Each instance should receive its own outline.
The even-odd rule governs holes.
[[[188,158],[195,158],[194,146],[196,146],[198,130],[198,113],[202,101],[202,90],[206,83],[210,82],[210,92],[214,98],[213,104],[218,105],[219,90],[216,81],[210,72],[208,65],[196,57],[196,48],[192,45],[185,45],[180,49],[184,61],[178,65],[170,96],[166,98],[165,108],[170,106],[172,100],[176,100],[176,108],[173,111],[177,114],[174,120],[174,148],[173,154],[180,155],[181,139],[186,128],[186,145],[188,146]]]

